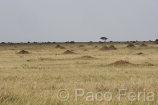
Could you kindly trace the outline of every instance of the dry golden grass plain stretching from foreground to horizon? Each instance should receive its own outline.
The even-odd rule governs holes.
[[[117,50],[100,50],[111,44]],[[145,44],[147,48],[139,43],[135,48],[110,42],[59,44],[66,49],[0,44],[0,105],[158,105],[158,44]],[[29,54],[18,54],[21,50]],[[63,54],[66,50],[76,54]],[[109,65],[120,60],[131,64]],[[69,92],[68,100],[59,99],[68,96],[62,89]]]

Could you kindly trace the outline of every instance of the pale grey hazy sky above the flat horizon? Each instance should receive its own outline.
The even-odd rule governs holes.
[[[158,39],[158,0],[0,0],[0,42]]]

